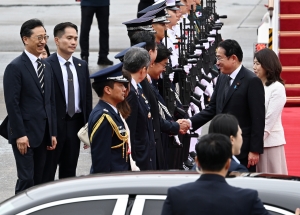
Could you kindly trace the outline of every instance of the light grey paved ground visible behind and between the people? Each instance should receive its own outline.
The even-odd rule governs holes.
[[[217,12],[228,15],[222,20],[225,25],[222,29],[223,38],[237,40],[244,51],[243,64],[250,68],[253,60],[253,43],[256,41],[256,29],[261,17],[266,12],[263,4],[267,0],[226,0],[217,1]],[[110,7],[110,55],[109,58],[128,47],[129,39],[126,28],[121,24],[135,18],[138,0],[114,0]],[[50,50],[55,51],[52,31],[59,22],[70,21],[80,26],[80,6],[74,0],[1,0],[0,1],[0,120],[6,116],[3,98],[3,73],[6,65],[20,54],[23,45],[19,37],[20,25],[30,19],[43,20],[50,40]],[[98,30],[94,20],[90,33],[90,72],[101,69],[97,62]],[[79,56],[79,48],[75,56]],[[117,63],[118,61],[115,61]],[[94,95],[94,104],[97,97]],[[203,129],[206,133],[207,129]],[[0,137],[0,202],[14,195],[16,181],[16,167],[12,150],[7,141]],[[77,175],[86,175],[90,167],[89,150],[82,150],[78,163]]]

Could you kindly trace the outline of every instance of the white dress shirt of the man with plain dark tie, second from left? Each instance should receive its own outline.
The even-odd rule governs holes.
[[[70,59],[65,60],[63,57],[61,57],[59,54],[57,54],[58,62],[61,67],[63,81],[64,81],[64,89],[65,89],[65,98],[66,98],[66,113],[68,111],[68,72],[66,67],[66,62],[70,62],[70,70],[73,74],[73,85],[74,85],[74,96],[75,96],[75,113],[80,113],[80,88],[79,88],[79,82],[78,82],[78,76],[77,71],[75,68],[75,65],[73,63],[73,57],[71,56]]]

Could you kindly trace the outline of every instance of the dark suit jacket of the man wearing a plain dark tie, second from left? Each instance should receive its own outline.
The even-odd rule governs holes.
[[[64,89],[62,70],[56,53],[50,55],[50,57],[48,57],[46,61],[52,66],[53,73],[54,73],[57,128],[58,128],[58,135],[60,136],[60,134],[65,133],[64,119],[66,116],[66,98],[65,98],[65,89]],[[88,121],[89,115],[92,111],[92,88],[91,88],[91,81],[89,78],[90,74],[89,74],[87,63],[85,61],[73,57],[73,63],[76,68],[78,82],[79,82],[80,109],[84,117],[84,122],[82,123],[83,126]]]

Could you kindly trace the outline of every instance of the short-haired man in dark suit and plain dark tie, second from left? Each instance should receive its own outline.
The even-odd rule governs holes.
[[[48,152],[44,181],[52,181],[59,164],[59,178],[76,176],[80,151],[77,132],[92,111],[92,89],[87,63],[72,56],[78,44],[77,26],[64,22],[54,27],[57,53],[47,58],[54,72],[57,114],[57,148]]]

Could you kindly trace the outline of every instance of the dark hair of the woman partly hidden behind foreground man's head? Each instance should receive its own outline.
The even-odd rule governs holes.
[[[231,135],[236,137],[239,122],[231,114],[218,114],[210,122],[208,133],[224,134],[227,137]]]

